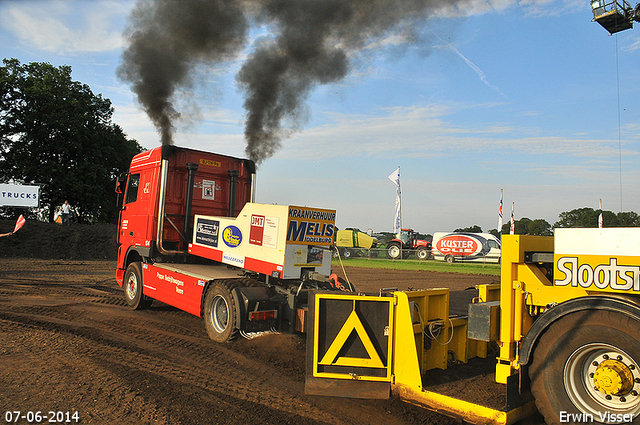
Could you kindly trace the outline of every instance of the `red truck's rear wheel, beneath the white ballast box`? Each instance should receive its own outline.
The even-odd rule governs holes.
[[[205,295],[202,318],[209,338],[216,342],[229,342],[237,336],[236,304],[232,295],[235,286],[232,281],[214,282]]]

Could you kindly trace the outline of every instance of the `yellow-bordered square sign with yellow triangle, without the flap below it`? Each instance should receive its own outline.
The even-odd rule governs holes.
[[[391,380],[393,297],[316,294],[313,376]]]

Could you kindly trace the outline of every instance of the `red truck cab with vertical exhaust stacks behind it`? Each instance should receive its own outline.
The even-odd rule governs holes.
[[[136,155],[116,188],[118,283],[133,261],[186,254],[195,214],[234,217],[252,199],[254,175],[250,160],[187,148]]]

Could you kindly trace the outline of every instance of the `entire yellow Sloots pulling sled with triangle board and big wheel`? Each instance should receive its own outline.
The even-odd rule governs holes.
[[[396,395],[472,423],[536,407],[550,424],[640,423],[640,229],[503,236],[502,249],[500,285],[480,287],[467,317],[449,316],[446,288],[316,293],[306,392]],[[496,346],[486,385],[503,406],[464,394],[467,378],[432,384],[451,364],[478,379]]]

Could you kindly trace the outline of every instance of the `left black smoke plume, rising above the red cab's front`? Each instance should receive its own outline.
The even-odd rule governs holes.
[[[200,64],[232,59],[246,44],[248,23],[234,0],[140,0],[125,32],[129,46],[118,76],[131,83],[138,101],[172,143],[176,90],[190,87]]]

